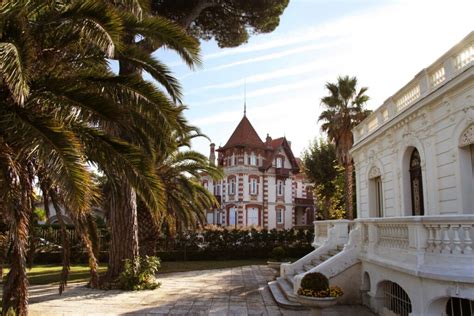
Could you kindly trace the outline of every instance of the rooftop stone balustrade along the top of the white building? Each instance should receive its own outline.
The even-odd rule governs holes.
[[[474,32],[471,32],[356,126],[353,129],[354,145],[473,65]]]

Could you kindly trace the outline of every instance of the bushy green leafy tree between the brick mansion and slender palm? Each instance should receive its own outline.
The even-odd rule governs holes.
[[[322,209],[322,217],[330,219],[340,209],[341,200],[337,193],[340,190],[339,180],[342,167],[336,157],[333,143],[320,139],[315,141],[303,153],[303,168],[306,176],[315,184],[317,202]]]

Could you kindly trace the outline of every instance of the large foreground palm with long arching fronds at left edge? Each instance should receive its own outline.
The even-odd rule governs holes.
[[[157,25],[161,28],[149,29]],[[89,245],[92,285],[97,261],[86,225],[99,190],[90,164],[128,183],[151,210],[163,205],[148,153],[180,128],[182,110],[141,77],[116,75],[107,59],[146,64],[150,73],[163,75],[168,93],[179,90],[166,67],[127,48],[124,29],[156,35],[150,38],[176,47],[188,61],[196,58],[197,44],[167,21],[138,20],[96,0],[3,1],[0,26],[0,214],[11,245],[2,313],[11,307],[26,315],[26,249],[36,180],[68,210]],[[114,130],[127,131],[127,139]]]

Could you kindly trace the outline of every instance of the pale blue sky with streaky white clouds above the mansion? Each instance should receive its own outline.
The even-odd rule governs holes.
[[[324,84],[356,76],[369,87],[369,109],[380,106],[474,30],[474,1],[290,0],[280,26],[237,48],[202,43],[202,67],[189,70],[172,52],[171,66],[189,107],[186,117],[217,146],[243,115],[265,139],[286,136],[299,156],[320,137]],[[209,153],[209,141],[193,148]]]

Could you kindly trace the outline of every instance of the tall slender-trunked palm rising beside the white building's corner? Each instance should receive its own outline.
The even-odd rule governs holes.
[[[321,113],[319,120],[323,121],[321,129],[336,145],[337,159],[344,167],[345,207],[349,219],[353,219],[353,162],[349,150],[354,144],[352,129],[371,113],[364,109],[369,100],[365,94],[368,88],[362,87],[357,91],[357,78],[345,76],[338,77],[337,83],[326,83],[326,89],[329,95],[321,99],[326,110]]]

